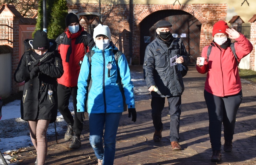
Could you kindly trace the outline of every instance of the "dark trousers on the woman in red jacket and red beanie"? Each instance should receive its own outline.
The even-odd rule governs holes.
[[[242,102],[242,90],[235,95],[219,97],[204,90],[204,99],[209,115],[209,135],[212,150],[221,150],[221,128],[224,139],[232,140],[237,110]]]

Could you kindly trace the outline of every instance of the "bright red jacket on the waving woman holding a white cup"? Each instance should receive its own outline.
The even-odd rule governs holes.
[[[236,39],[235,50],[238,62],[247,56],[253,49],[252,44],[244,35]],[[237,94],[241,89],[241,81],[236,58],[232,53],[231,47],[227,49],[218,48],[214,42],[211,43],[212,49],[208,62],[205,60],[201,67],[196,66],[196,70],[207,73],[204,89],[216,96],[224,97]],[[206,46],[202,50],[202,57],[207,59]]]

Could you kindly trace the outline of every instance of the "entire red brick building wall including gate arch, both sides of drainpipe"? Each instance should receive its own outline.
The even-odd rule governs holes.
[[[98,13],[98,4],[69,4],[69,12],[75,14],[84,12]],[[122,35],[123,43],[118,48],[123,51],[129,62],[129,5],[106,5],[101,4],[102,24],[108,25],[111,33],[119,33]],[[219,20],[226,20],[227,4],[134,4],[133,5],[133,25],[132,25],[132,62],[139,64],[140,62],[140,22],[148,15],[159,10],[183,10],[197,18],[201,24],[200,50],[207,46],[212,40],[212,26]]]

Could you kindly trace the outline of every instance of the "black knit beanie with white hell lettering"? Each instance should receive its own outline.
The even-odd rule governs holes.
[[[37,30],[34,34],[32,45],[35,50],[49,49],[50,43],[47,38],[47,33],[45,31]]]

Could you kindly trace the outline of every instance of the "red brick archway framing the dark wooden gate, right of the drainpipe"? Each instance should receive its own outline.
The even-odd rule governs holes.
[[[200,52],[203,47],[210,44],[213,37],[211,36],[212,26],[219,20],[226,20],[228,6],[227,4],[135,4],[134,5],[134,40],[133,45],[136,49],[133,50],[134,59],[140,61],[140,23],[147,16],[160,10],[182,10],[194,16],[202,25],[200,33]]]

